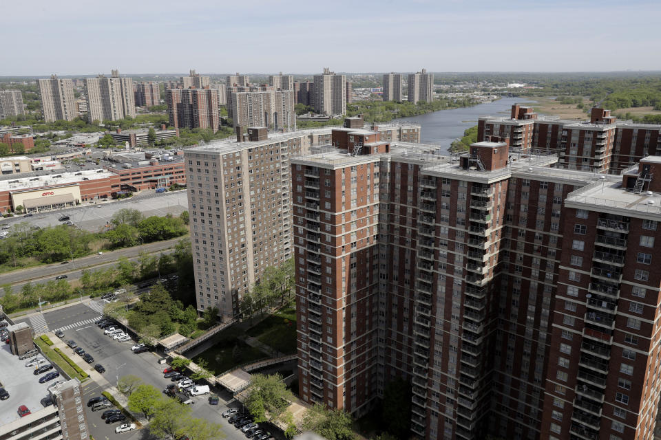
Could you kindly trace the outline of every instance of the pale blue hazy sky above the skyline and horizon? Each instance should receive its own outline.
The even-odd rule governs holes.
[[[0,0],[0,76],[661,70],[661,1]]]

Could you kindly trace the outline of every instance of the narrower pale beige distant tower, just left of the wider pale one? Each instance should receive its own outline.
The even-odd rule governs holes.
[[[56,120],[74,120],[76,100],[74,99],[74,83],[70,79],[60,79],[51,75],[50,79],[36,80],[39,85],[39,100],[41,100],[41,117],[45,122]]]

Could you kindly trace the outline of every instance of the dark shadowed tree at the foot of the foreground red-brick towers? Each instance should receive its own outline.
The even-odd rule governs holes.
[[[411,428],[411,385],[403,379],[395,379],[384,388],[384,401],[381,419],[390,434],[402,439]]]

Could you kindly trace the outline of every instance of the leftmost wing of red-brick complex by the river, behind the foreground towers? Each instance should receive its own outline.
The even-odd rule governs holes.
[[[537,113],[532,107],[512,105],[510,118],[480,116],[477,121],[477,141],[497,140],[507,142],[510,151],[529,150],[533,146]],[[505,139],[507,141],[505,141]]]

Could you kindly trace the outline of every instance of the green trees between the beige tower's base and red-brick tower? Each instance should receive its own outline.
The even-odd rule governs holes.
[[[278,267],[266,267],[260,280],[241,298],[240,312],[244,318],[249,318],[252,325],[253,316],[257,312],[264,316],[264,311],[269,307],[278,304],[282,306],[286,301],[291,300],[294,281],[293,257]]]

